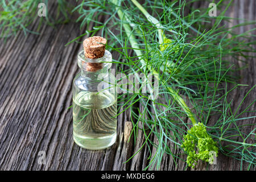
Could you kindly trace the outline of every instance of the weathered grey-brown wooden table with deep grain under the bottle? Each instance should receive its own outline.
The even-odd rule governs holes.
[[[254,0],[234,1],[236,6],[228,14],[255,20],[255,4]],[[205,2],[193,6],[205,6]],[[56,5],[52,5],[49,11],[55,9]],[[241,23],[241,20],[232,23]],[[36,30],[36,24],[38,21],[30,29]],[[72,109],[67,108],[72,105],[72,80],[80,71],[77,53],[82,46],[78,43],[64,45],[83,33],[79,27],[79,23],[72,22],[58,24],[55,28],[44,24],[40,35],[24,36],[20,31],[6,43],[0,40],[1,170],[141,170],[147,166],[149,151],[146,148],[130,162],[123,163],[144,142],[142,133],[135,144],[133,140],[127,142],[131,132],[130,122],[127,122],[129,111],[118,116],[118,139],[107,150],[85,150],[73,142]],[[240,71],[242,78],[239,82],[249,86],[236,90],[234,106],[255,85],[255,72],[254,57]],[[253,92],[245,104],[255,99]],[[247,117],[250,114],[255,113],[249,113]],[[45,161],[41,160],[44,154]],[[160,170],[183,170],[185,166],[181,160],[175,165],[170,155],[164,155]],[[196,169],[207,169],[207,165],[200,164]],[[208,169],[236,170],[240,169],[240,161],[220,154],[217,164]]]

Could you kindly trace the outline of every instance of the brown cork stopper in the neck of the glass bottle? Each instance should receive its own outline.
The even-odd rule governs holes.
[[[93,36],[84,40],[84,55],[89,59],[98,59],[105,54],[106,39]],[[96,72],[102,69],[102,63],[86,63],[86,71]]]

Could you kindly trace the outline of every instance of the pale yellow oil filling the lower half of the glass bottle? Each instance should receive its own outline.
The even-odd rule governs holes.
[[[117,100],[109,92],[80,92],[73,98],[73,139],[83,148],[100,150],[117,137]]]

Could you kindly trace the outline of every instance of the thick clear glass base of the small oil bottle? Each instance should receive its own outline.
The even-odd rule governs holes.
[[[102,150],[104,148],[112,146],[115,143],[115,140],[117,139],[117,134],[115,133],[107,137],[93,138],[73,133],[73,139],[74,142],[82,148],[86,148],[88,150]]]

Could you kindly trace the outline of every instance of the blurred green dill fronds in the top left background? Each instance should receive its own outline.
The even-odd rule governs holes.
[[[39,3],[46,4],[46,17],[38,16]],[[69,20],[69,7],[67,1],[57,1],[57,14],[53,18],[48,14],[48,0],[1,0],[0,1],[0,38],[8,38],[15,35],[18,31],[22,30],[25,35],[27,33],[38,34],[38,32],[31,31],[28,26],[35,19],[40,19],[38,28],[39,30],[42,22],[46,22],[53,26],[56,23],[65,23]],[[61,16],[60,16],[61,15]],[[64,17],[64,18],[63,18]],[[46,19],[46,21],[44,21]]]

